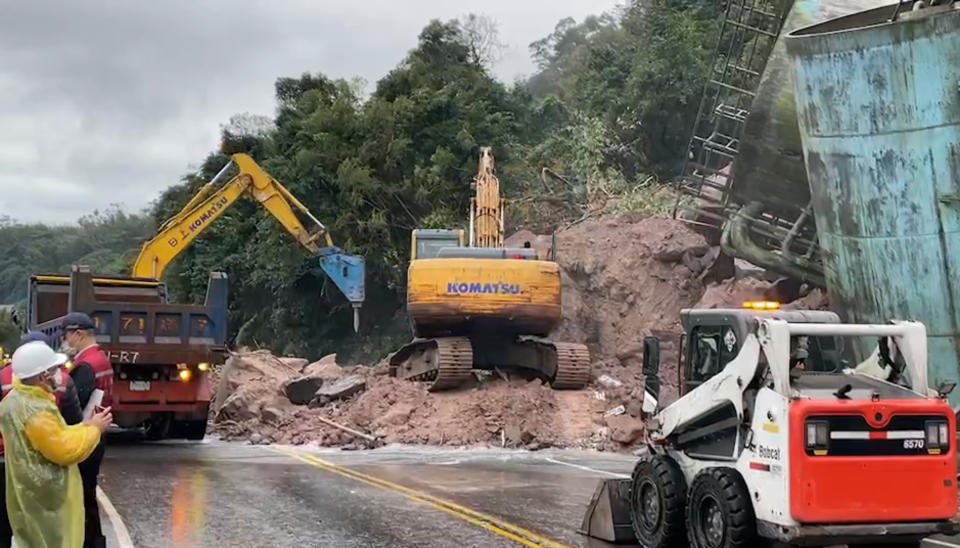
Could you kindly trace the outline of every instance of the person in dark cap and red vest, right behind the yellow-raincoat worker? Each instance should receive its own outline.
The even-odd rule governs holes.
[[[71,312],[61,322],[63,342],[68,352],[75,354],[70,376],[77,385],[80,406],[84,408],[95,389],[103,391],[101,405],[109,407],[113,399],[113,366],[97,344],[95,324],[90,316]],[[100,507],[97,505],[97,476],[103,462],[104,444],[101,440],[88,459],[80,463],[83,480],[83,505],[86,511],[84,548],[104,548],[107,539],[100,525]]]

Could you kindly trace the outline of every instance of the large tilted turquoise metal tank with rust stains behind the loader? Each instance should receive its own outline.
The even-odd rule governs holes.
[[[786,44],[831,305],[924,322],[936,386],[960,377],[960,4],[923,6]]]

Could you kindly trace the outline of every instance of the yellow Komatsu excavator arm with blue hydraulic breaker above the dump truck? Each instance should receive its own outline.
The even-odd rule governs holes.
[[[320,268],[353,305],[356,331],[359,309],[364,300],[363,258],[348,255],[335,247],[323,223],[253,158],[244,153],[233,154],[230,158],[231,161],[143,245],[133,265],[133,276],[159,280],[177,255],[247,194],[262,204],[300,245],[320,258]],[[228,173],[233,172],[235,175],[229,181],[218,186]]]

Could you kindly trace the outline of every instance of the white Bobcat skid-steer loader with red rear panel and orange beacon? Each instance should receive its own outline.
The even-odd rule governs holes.
[[[662,408],[645,340],[643,456],[601,483],[581,532],[645,548],[915,548],[958,532],[953,386],[928,388],[923,324],[745,305],[682,311],[680,398]]]

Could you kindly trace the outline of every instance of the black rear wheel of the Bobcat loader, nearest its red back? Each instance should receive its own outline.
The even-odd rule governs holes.
[[[757,520],[750,493],[735,470],[710,468],[697,474],[687,496],[691,548],[752,548]]]

